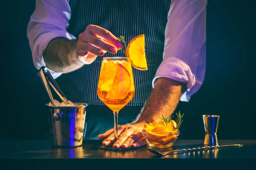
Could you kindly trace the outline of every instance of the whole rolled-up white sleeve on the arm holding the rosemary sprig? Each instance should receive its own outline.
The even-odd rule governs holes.
[[[76,39],[67,31],[70,17],[69,0],[36,0],[35,11],[27,27],[27,37],[37,69],[46,66],[44,51],[52,39],[57,37]],[[54,79],[63,74],[50,69],[49,71]]]

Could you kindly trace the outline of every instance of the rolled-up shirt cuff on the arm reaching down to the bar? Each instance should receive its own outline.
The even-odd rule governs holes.
[[[201,86],[196,85],[197,81],[195,79],[195,75],[192,73],[189,66],[177,57],[169,57],[168,59],[163,60],[152,81],[153,88],[155,80],[160,77],[166,77],[178,82],[187,83],[187,89],[180,97],[180,101],[183,102],[188,102],[192,94],[195,94]]]

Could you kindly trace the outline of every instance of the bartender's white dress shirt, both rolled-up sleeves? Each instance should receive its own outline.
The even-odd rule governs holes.
[[[206,6],[207,0],[172,0],[165,30],[163,61],[152,81],[159,77],[184,82],[187,90],[180,97],[189,101],[204,81],[206,69]],[[37,69],[46,66],[44,51],[57,37],[76,39],[67,31],[71,9],[69,0],[36,0],[27,36]],[[53,78],[63,73],[50,70]]]

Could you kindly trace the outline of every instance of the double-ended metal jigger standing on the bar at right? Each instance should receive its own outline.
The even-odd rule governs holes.
[[[205,138],[204,144],[205,145],[218,145],[218,138],[217,138],[217,129],[218,129],[218,121],[220,116],[218,115],[203,115],[204,120],[204,130],[205,130]]]

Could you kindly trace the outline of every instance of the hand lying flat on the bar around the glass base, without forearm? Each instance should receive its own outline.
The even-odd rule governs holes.
[[[128,147],[141,147],[146,144],[144,136],[142,136],[142,129],[144,123],[133,125],[118,126],[118,139],[115,141],[114,128],[106,131],[98,136],[99,140],[103,140],[104,146],[113,145],[115,149]]]

